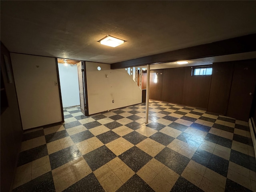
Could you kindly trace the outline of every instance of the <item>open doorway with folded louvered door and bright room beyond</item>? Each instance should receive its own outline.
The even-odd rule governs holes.
[[[87,116],[84,62],[58,58],[58,71],[65,121]]]

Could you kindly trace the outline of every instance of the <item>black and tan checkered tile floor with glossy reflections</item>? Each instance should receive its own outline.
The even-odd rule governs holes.
[[[13,191],[256,191],[247,122],[150,100],[24,133]]]

